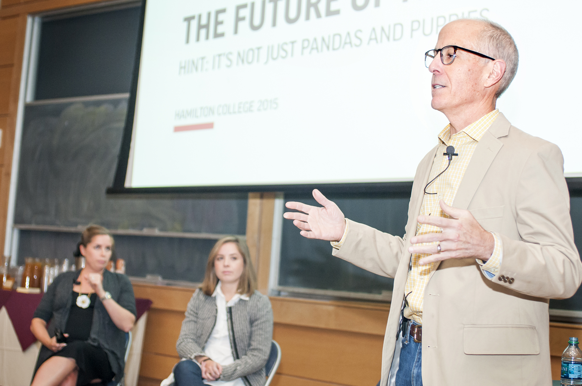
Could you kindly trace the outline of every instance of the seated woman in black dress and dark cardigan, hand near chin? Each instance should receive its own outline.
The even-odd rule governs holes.
[[[112,249],[107,229],[87,227],[79,243],[85,267],[57,276],[42,296],[30,324],[42,343],[31,386],[88,385],[123,377],[136,300],[127,276],[105,270]],[[56,328],[66,343],[56,341]]]

